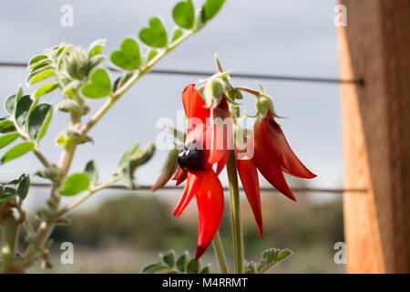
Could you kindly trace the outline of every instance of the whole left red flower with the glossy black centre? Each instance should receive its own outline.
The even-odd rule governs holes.
[[[230,117],[230,112],[223,97],[208,107],[195,89],[195,84],[184,89],[182,102],[188,118],[188,133],[184,146],[179,150],[179,168],[173,180],[177,181],[177,185],[185,179],[187,183],[174,215],[182,214],[195,197],[199,212],[199,236],[195,255],[195,259],[198,259],[210,245],[222,218],[223,188],[212,165],[216,163],[220,172],[226,164],[231,141],[225,135],[230,130],[224,130],[224,126],[229,128],[231,124],[221,122]],[[159,178],[160,183],[156,183],[156,186],[164,185],[170,176],[163,175],[164,180]]]

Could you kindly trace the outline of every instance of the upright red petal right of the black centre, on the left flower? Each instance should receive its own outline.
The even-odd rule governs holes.
[[[232,145],[232,122],[228,103],[225,98],[220,100],[220,104],[210,110],[210,149],[209,163],[220,162],[227,152],[231,150]],[[208,138],[208,137],[207,137]]]

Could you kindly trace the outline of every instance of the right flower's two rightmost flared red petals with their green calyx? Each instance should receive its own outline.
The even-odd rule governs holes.
[[[293,153],[281,126],[274,120],[272,100],[261,96],[257,99],[258,118],[253,126],[253,162],[263,177],[278,191],[296,201],[286,183],[283,173],[292,176],[312,179],[316,177]]]

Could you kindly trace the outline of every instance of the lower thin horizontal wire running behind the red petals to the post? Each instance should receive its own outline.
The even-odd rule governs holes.
[[[6,183],[1,183],[5,185]],[[37,188],[47,188],[51,187],[51,183],[31,183],[30,186],[37,187]],[[150,191],[151,185],[142,184],[138,185],[137,189],[129,189],[125,185],[110,185],[105,190],[125,190],[125,191]],[[178,191],[182,190],[183,187],[181,186],[164,186],[160,190],[165,191]],[[225,191],[229,191],[228,187],[223,187]],[[291,188],[292,192],[294,193],[367,193],[366,189],[330,189],[330,188],[306,188],[306,187],[295,187]],[[243,188],[240,188],[240,191],[243,191]],[[270,187],[261,187],[261,192],[273,192],[279,193],[278,190]]]

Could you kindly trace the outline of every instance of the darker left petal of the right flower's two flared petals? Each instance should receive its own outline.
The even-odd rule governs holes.
[[[259,119],[258,119],[259,120]],[[272,153],[266,148],[261,137],[261,123],[255,122],[254,125],[254,154],[253,162],[255,162],[263,177],[271,183],[279,192],[286,195],[293,201],[296,201],[291,189],[286,183],[280,162],[275,160]]]

